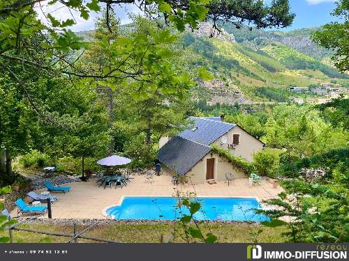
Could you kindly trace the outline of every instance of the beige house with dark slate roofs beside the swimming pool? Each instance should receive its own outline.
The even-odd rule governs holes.
[[[224,117],[191,117],[193,125],[175,137],[163,137],[159,141],[158,159],[163,171],[170,175],[185,175],[193,184],[206,180],[225,180],[225,173],[235,178],[246,177],[228,159],[220,157],[211,148],[218,145],[232,155],[252,161],[253,153],[265,144],[238,125],[224,122]]]

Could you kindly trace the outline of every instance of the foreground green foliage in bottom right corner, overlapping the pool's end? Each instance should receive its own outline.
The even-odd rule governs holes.
[[[279,198],[266,200],[273,210],[260,211],[272,220],[288,216],[293,222],[285,232],[292,242],[347,242],[348,187],[337,191],[335,186],[309,184],[304,180],[289,180],[283,183],[286,193]]]

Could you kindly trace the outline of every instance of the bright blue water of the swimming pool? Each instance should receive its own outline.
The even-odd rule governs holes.
[[[255,214],[260,205],[254,198],[197,198],[201,209],[194,214],[197,220],[267,221],[269,218]],[[107,214],[114,219],[176,220],[188,208],[177,206],[177,198],[125,197],[120,206],[110,207]]]

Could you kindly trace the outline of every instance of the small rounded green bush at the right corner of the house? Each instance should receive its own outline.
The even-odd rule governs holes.
[[[263,176],[276,177],[279,170],[279,150],[266,148],[253,154],[255,170]]]

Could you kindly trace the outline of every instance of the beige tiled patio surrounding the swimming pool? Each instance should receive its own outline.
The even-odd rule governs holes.
[[[271,181],[263,180],[260,185],[250,187],[248,179],[235,180],[235,184],[218,182],[217,184],[197,184],[191,186],[172,185],[169,175],[155,176],[150,184],[142,175],[133,176],[133,180],[127,187],[117,187],[110,189],[107,187],[98,187],[96,180],[89,182],[73,182],[62,184],[61,186],[71,187],[68,193],[55,193],[51,195],[58,196],[59,200],[52,204],[52,218],[55,219],[105,219],[102,215],[103,209],[110,205],[121,203],[123,196],[172,196],[177,189],[179,191],[195,191],[197,196],[212,197],[254,197],[258,200],[264,200],[276,196],[282,191],[281,187],[276,189]],[[36,191],[45,191],[39,189]],[[27,201],[29,198],[27,198]],[[16,212],[15,209],[13,212]],[[45,214],[47,216],[47,214]]]

